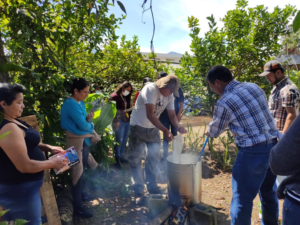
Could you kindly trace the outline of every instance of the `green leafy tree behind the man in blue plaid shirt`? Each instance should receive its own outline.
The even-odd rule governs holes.
[[[221,19],[221,29],[213,15],[207,17],[210,29],[204,37],[199,37],[199,20],[193,16],[188,18],[193,55],[186,52],[181,60],[183,68],[176,69],[175,73],[187,98],[190,101],[195,96],[202,98],[204,110],[211,115],[218,96],[206,82],[209,68],[222,64],[232,71],[235,79],[255,82],[268,93],[271,86],[255,75],[261,72],[266,60],[279,53],[280,36],[286,34],[288,19],[295,14],[295,7],[290,5],[283,9],[275,7],[269,13],[263,5],[246,9],[247,3],[238,0],[236,8]]]

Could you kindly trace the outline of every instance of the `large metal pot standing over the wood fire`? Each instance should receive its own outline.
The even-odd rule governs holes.
[[[201,202],[202,162],[199,156],[182,154],[180,163],[167,157],[168,198],[177,205],[196,205]]]

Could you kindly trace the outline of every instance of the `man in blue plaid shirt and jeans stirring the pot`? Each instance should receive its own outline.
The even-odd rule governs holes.
[[[264,91],[256,84],[238,82],[224,66],[212,67],[206,76],[220,95],[206,135],[218,137],[229,127],[239,152],[232,167],[231,224],[251,224],[253,200],[259,193],[262,224],[277,225],[279,205],[276,175],[269,167],[278,130]]]

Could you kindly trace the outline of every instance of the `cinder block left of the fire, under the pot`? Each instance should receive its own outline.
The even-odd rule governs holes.
[[[165,194],[149,194],[148,215],[152,220],[170,206],[170,201]]]

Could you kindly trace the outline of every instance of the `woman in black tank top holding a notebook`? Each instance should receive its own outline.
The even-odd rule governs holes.
[[[60,147],[40,143],[41,137],[20,117],[23,104],[24,86],[0,83],[0,206],[4,220],[30,220],[29,225],[41,223],[40,187],[44,170],[60,169],[66,159],[55,157],[46,160],[44,152],[56,154]]]

